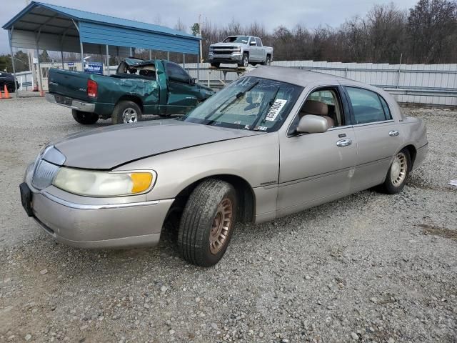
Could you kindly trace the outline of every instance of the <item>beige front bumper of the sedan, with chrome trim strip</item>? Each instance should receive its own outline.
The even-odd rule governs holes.
[[[30,182],[31,216],[57,241],[83,248],[151,246],[159,242],[174,199],[81,204],[37,191]],[[52,189],[53,187],[51,187]],[[89,198],[90,200],[91,198]]]

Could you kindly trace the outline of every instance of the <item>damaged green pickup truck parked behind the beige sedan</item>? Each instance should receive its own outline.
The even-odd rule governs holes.
[[[49,70],[46,99],[66,106],[80,124],[99,118],[134,123],[142,114],[185,114],[214,91],[196,84],[179,64],[159,59],[125,59],[111,76]]]

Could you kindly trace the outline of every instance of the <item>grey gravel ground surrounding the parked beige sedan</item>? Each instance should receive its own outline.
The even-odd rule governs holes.
[[[42,234],[20,204],[26,164],[86,128],[44,99],[3,100],[0,342],[457,342],[457,112],[405,111],[426,121],[430,153],[401,194],[240,224],[202,269],[172,234],[116,251]]]

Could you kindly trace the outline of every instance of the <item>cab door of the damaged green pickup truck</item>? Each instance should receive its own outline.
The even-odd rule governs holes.
[[[166,61],[167,114],[182,114],[196,106],[196,87],[191,84],[191,76],[176,63]]]

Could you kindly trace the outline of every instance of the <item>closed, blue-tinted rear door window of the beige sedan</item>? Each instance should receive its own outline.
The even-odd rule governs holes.
[[[354,124],[366,124],[386,120],[381,98],[374,91],[355,87],[346,87],[346,91],[348,91],[349,100],[352,104],[354,119],[356,121]]]

